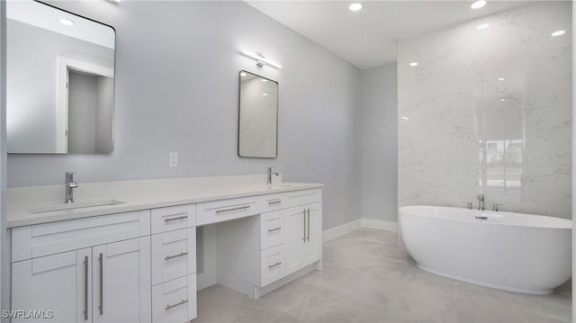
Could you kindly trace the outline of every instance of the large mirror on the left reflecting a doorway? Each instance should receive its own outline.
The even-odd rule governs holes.
[[[6,2],[8,153],[112,152],[115,39],[51,5]]]

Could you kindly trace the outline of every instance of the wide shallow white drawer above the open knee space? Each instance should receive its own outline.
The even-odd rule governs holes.
[[[197,225],[244,218],[258,214],[254,196],[198,204]]]

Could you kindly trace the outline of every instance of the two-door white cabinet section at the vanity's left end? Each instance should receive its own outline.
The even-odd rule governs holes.
[[[149,321],[147,234],[146,211],[13,229],[12,310],[51,310],[55,322]]]

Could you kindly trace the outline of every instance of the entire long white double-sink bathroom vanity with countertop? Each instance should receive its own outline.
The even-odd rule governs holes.
[[[85,193],[80,184],[79,207],[56,211],[45,210],[62,204],[25,195],[49,200],[62,188],[9,192],[12,310],[58,322],[194,319],[203,226],[217,227],[218,283],[252,299],[321,269],[323,185],[239,177],[85,184]],[[115,203],[89,206],[96,200]]]

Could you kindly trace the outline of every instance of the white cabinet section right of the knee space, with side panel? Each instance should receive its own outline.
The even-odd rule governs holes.
[[[320,268],[321,201],[320,189],[258,195],[259,216],[217,223],[218,282],[257,299]]]

